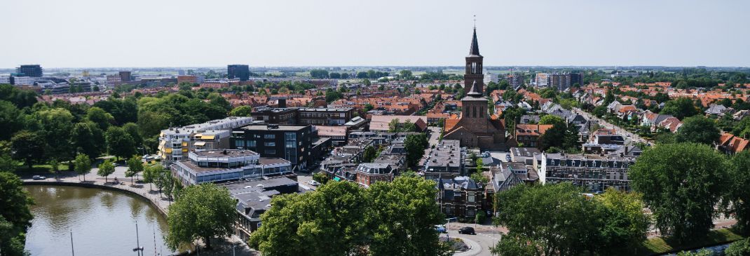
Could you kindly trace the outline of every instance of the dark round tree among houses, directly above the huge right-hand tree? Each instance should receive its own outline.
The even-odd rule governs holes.
[[[713,145],[720,137],[720,131],[716,128],[716,122],[705,116],[691,116],[682,120],[675,135],[676,142],[691,142]]]

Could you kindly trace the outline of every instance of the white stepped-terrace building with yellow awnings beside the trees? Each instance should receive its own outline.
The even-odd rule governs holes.
[[[188,152],[205,149],[229,149],[232,129],[253,122],[251,117],[230,116],[202,124],[162,130],[157,155],[168,167],[173,161],[187,159]]]

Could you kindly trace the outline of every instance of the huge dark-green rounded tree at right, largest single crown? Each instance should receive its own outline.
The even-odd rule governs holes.
[[[679,242],[713,227],[715,206],[730,166],[724,155],[697,143],[657,144],[631,166],[631,185],[655,216],[655,227]]]

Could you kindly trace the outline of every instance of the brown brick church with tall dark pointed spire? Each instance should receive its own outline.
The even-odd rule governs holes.
[[[461,98],[462,109],[458,119],[446,119],[443,127],[444,140],[459,140],[460,146],[480,149],[498,149],[505,144],[505,125],[499,116],[487,111],[487,98],[484,98],[484,74],[476,40],[476,28],[466,56],[466,73],[463,75],[463,89],[466,97]]]

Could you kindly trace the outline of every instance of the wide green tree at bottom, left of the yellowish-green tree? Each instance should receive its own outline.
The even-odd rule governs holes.
[[[503,239],[536,245],[524,249],[535,249],[536,255],[577,255],[592,248],[598,237],[596,207],[581,192],[581,188],[565,182],[520,185],[496,194],[496,202],[502,208],[496,224],[509,230]]]

